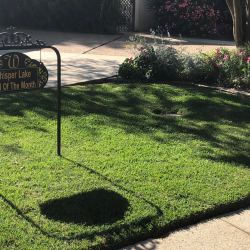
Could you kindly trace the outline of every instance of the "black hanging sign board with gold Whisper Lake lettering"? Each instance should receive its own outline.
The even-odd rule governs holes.
[[[40,89],[47,82],[43,63],[19,52],[0,56],[0,92]]]

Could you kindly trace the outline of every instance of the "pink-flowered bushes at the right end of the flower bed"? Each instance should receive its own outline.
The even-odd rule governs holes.
[[[217,48],[210,53],[186,55],[182,79],[224,87],[250,87],[250,51]]]

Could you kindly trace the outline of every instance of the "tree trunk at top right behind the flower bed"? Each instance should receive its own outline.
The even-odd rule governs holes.
[[[233,19],[233,36],[237,47],[250,43],[250,0],[243,0],[246,8],[246,28],[243,31],[242,0],[226,0]]]

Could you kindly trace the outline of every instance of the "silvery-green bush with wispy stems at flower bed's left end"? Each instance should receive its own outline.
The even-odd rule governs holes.
[[[153,36],[154,36],[154,31]],[[135,58],[125,59],[120,66],[118,75],[123,78],[140,80],[174,80],[182,70],[181,56],[172,46],[158,44],[154,37],[154,46],[146,43],[140,35],[130,37],[127,48],[135,50]]]

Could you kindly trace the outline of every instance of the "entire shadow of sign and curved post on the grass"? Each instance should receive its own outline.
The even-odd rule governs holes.
[[[159,217],[163,215],[162,210],[157,205],[152,202],[146,200],[145,198],[136,195],[135,192],[129,190],[101,173],[84,166],[80,163],[77,163],[73,160],[62,157],[65,160],[75,164],[77,167],[82,167],[90,174],[97,175],[101,177],[103,180],[108,181],[111,185],[125,191],[126,193],[132,194],[136,198],[140,199],[142,202],[149,204],[151,207],[155,209],[155,214],[147,215],[140,219],[135,219],[128,223],[122,224],[122,226],[112,225],[115,224],[116,221],[124,218],[125,212],[129,209],[129,202],[126,198],[118,194],[114,191],[108,191],[105,189],[96,189],[86,193],[79,193],[70,197],[60,198],[56,200],[49,200],[40,205],[41,214],[45,215],[47,219],[60,221],[62,223],[76,223],[76,224],[85,224],[87,226],[100,226],[103,224],[111,224],[110,228],[105,230],[94,230],[90,232],[79,233],[74,236],[58,236],[53,233],[47,232],[43,229],[36,221],[23,213],[12,201],[7,199],[4,195],[0,193],[0,197],[12,208],[14,209],[19,216],[29,222],[33,227],[37,228],[43,235],[49,238],[56,238],[58,240],[63,241],[71,241],[71,240],[81,240],[81,239],[89,239],[93,240],[95,237],[106,237],[107,234],[116,234],[124,233],[124,230],[131,230],[131,227],[143,226],[147,223],[153,223]],[[105,200],[103,204],[103,200]],[[116,200],[117,199],[117,200]],[[103,207],[95,207],[96,211],[92,211],[91,208],[94,206],[103,206]],[[114,209],[113,206],[117,206]],[[112,209],[110,209],[112,208]],[[111,211],[109,211],[109,209]],[[93,209],[94,210],[94,209]],[[77,213],[77,215],[74,213]],[[58,213],[58,214],[57,214]],[[86,214],[84,214],[86,213]],[[100,214],[98,214],[100,213]],[[107,213],[104,215],[104,213]],[[78,217],[79,216],[79,217]],[[136,238],[137,240],[143,240],[144,237]]]

